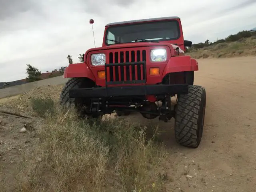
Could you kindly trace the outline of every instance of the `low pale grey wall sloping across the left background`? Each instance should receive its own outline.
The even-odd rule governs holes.
[[[64,84],[68,81],[68,78],[63,78],[63,76],[53,77],[49,79],[44,79],[36,82],[26,83],[22,85],[11,86],[8,88],[0,89],[0,98],[15,96],[18,94],[22,94],[27,92],[31,89],[40,86],[47,86],[47,85],[60,85]]]

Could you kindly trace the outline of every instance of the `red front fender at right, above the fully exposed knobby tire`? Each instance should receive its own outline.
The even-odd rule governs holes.
[[[182,71],[198,71],[198,62],[190,56],[171,57],[163,71],[162,78],[168,73]]]

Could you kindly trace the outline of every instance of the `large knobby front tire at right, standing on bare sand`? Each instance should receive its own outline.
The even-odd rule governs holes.
[[[180,94],[175,108],[175,138],[182,146],[197,148],[204,128],[206,91],[204,87],[189,85],[188,94]]]

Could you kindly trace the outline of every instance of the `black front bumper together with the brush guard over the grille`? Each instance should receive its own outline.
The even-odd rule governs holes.
[[[136,85],[146,83],[146,61],[105,64],[105,76],[106,87],[71,89],[69,90],[70,98],[106,98],[111,96],[145,95],[158,96],[188,93],[188,84]],[[124,84],[134,85],[122,86]],[[108,85],[120,86],[109,87]]]

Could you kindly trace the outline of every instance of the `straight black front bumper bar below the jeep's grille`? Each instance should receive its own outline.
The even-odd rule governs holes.
[[[188,84],[142,85],[120,87],[78,88],[69,90],[70,98],[104,98],[110,96],[146,96],[187,94]]]

